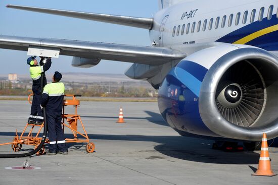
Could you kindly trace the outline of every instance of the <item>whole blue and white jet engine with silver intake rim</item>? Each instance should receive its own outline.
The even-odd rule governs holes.
[[[278,137],[278,59],[219,45],[179,62],[159,88],[159,108],[181,135],[259,141]]]

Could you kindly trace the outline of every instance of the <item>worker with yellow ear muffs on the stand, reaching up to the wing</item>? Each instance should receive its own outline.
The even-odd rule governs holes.
[[[40,65],[36,60],[36,56],[31,56],[27,59],[27,64],[30,65],[30,76],[33,81],[32,91],[33,91],[33,100],[31,106],[31,114],[28,119],[28,124],[42,125],[43,123],[43,114],[40,108],[41,102],[41,73],[48,71],[51,67],[51,58],[48,58],[44,66],[42,66],[43,57],[40,56]],[[43,84],[47,84],[47,78],[43,79]]]

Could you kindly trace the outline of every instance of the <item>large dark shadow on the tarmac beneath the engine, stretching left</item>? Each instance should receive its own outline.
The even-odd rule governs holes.
[[[15,132],[0,132],[0,136],[15,136]],[[65,134],[66,138],[72,138],[72,134]],[[257,164],[259,154],[254,152],[224,152],[211,149],[213,141],[181,136],[142,136],[142,135],[95,135],[88,134],[92,142],[94,140],[115,140],[115,141],[142,141],[158,143],[153,151],[163,155],[178,158],[181,160],[216,163],[216,164]],[[204,144],[205,142],[205,144]],[[71,150],[84,148],[85,144],[67,144]],[[26,150],[27,151],[27,150]],[[153,154],[152,154],[153,153]],[[155,156],[150,156],[155,157]]]

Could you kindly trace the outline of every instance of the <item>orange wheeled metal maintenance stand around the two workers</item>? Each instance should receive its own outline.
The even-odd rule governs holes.
[[[30,94],[28,97],[29,103],[30,97],[33,94]],[[75,99],[75,97],[81,96],[81,95],[65,95],[65,97],[72,97],[72,99],[64,99],[63,103],[63,112],[62,112],[62,122],[61,124],[63,125],[63,130],[65,132],[65,127],[69,128],[73,134],[73,138],[66,138],[66,143],[87,143],[86,144],[86,151],[88,153],[94,152],[95,151],[95,144],[89,142],[89,138],[87,135],[87,132],[85,130],[85,127],[83,125],[83,122],[81,120],[81,117],[79,114],[77,114],[77,107],[80,105],[80,100]],[[65,113],[65,106],[74,106],[75,112],[73,114],[66,114]],[[77,130],[77,125],[78,122],[80,122],[80,125],[82,127],[83,134],[80,133]],[[36,128],[37,133],[34,134],[34,128]],[[16,136],[14,138],[13,142],[10,143],[4,143],[0,144],[2,145],[12,145],[12,150],[14,152],[20,151],[22,148],[22,145],[33,145],[35,148],[40,144],[41,142],[41,137],[39,137],[39,133],[43,128],[42,125],[34,125],[34,124],[28,124],[25,126],[22,134],[18,136],[17,131],[16,131]],[[26,130],[29,129],[29,132],[27,133]],[[82,136],[82,139],[78,139],[78,135]],[[45,140],[45,144],[49,143],[49,140]],[[42,155],[45,152],[44,146],[41,147],[41,149],[36,153],[37,155]]]

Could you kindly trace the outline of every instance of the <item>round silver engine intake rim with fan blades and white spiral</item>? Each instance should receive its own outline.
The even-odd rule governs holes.
[[[259,48],[224,54],[204,77],[199,109],[216,134],[259,141],[278,136],[278,61]]]

